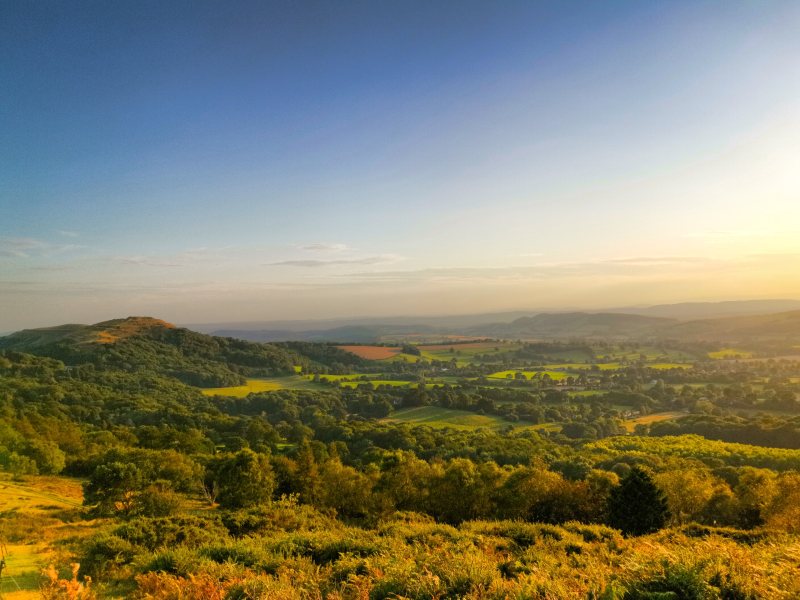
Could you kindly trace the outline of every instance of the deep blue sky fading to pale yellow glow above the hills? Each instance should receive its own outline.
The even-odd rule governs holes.
[[[800,297],[800,3],[0,3],[0,331]]]

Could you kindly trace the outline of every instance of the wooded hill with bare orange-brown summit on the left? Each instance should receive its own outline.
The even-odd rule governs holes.
[[[66,365],[88,363],[168,375],[199,386],[236,385],[244,377],[287,375],[296,365],[358,360],[333,347],[322,353],[317,349],[308,357],[285,345],[204,335],[150,317],[27,329],[0,338],[0,350],[32,352]]]

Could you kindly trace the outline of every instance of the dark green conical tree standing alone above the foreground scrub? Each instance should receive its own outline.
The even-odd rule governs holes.
[[[625,535],[645,535],[663,528],[669,519],[667,499],[650,476],[633,467],[608,499],[608,522]]]

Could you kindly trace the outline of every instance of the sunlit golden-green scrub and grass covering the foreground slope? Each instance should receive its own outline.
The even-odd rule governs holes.
[[[0,480],[5,600],[800,596],[800,538],[785,533],[688,525],[623,538],[600,525],[451,526],[408,512],[354,526],[292,499],[236,512],[87,520],[80,499],[80,483],[68,478]],[[42,568],[55,564],[67,577],[72,562],[81,563],[80,579],[91,576],[92,595],[40,591]]]

